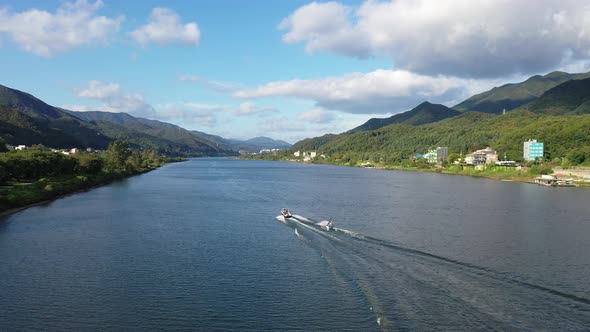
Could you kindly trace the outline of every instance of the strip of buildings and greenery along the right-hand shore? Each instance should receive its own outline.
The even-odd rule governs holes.
[[[522,143],[522,159],[508,160],[492,147],[472,152],[449,152],[448,147],[436,147],[407,156],[400,163],[380,160],[336,159],[318,151],[260,151],[249,158],[273,159],[305,163],[336,164],[379,169],[430,171],[448,174],[480,176],[506,181],[532,182],[549,187],[590,185],[590,167],[572,166],[567,158],[547,160],[544,143],[529,139]]]

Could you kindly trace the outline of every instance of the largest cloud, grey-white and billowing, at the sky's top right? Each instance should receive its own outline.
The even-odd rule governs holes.
[[[397,68],[461,77],[547,72],[590,55],[586,0],[311,3],[280,24],[308,52],[386,54]]]

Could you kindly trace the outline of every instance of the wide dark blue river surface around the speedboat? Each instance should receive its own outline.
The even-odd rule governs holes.
[[[587,330],[589,212],[579,188],[171,164],[0,218],[0,330]]]

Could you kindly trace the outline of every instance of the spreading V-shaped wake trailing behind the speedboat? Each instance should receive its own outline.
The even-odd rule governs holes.
[[[382,330],[584,330],[590,299],[294,215],[287,225],[335,279],[363,298]],[[304,218],[304,219],[302,219]]]

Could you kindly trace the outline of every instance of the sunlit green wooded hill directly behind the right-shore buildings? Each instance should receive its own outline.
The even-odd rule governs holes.
[[[574,151],[586,151],[590,158],[590,116],[551,116],[526,110],[506,115],[468,112],[421,126],[394,124],[339,135],[318,152],[336,159],[401,160],[437,146],[463,153],[490,146],[510,159],[521,160],[523,142],[530,138],[545,142],[547,158],[566,157]]]

